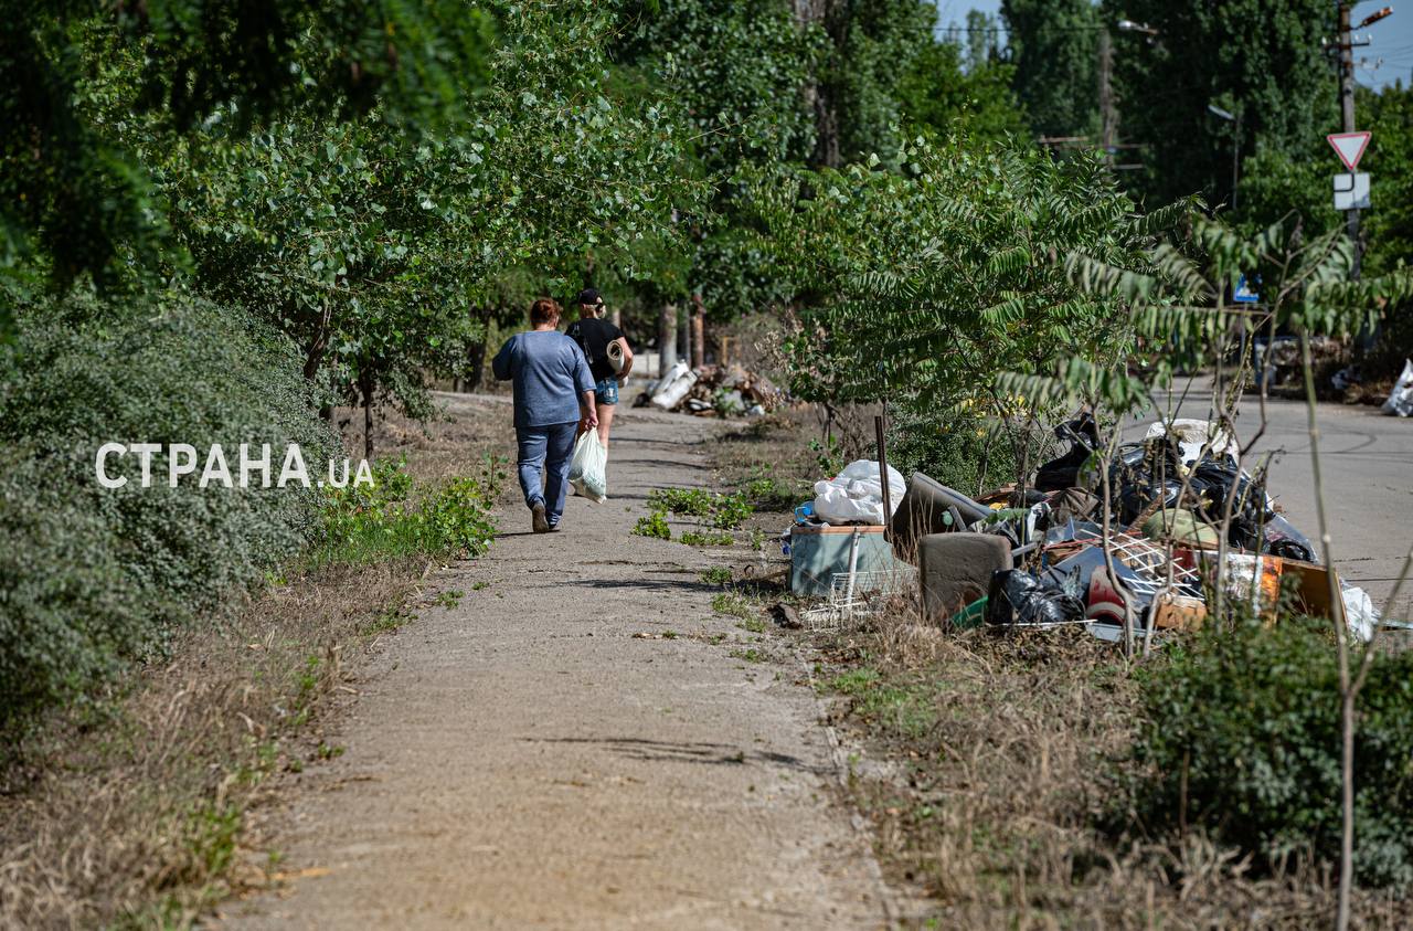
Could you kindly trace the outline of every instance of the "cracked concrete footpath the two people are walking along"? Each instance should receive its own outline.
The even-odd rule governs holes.
[[[280,819],[302,879],[222,927],[887,923],[801,670],[731,656],[712,557],[629,534],[650,489],[706,480],[712,429],[625,411],[609,503],[571,499],[552,535],[509,509],[490,555],[435,579],[465,598],[389,641],[346,753]]]

